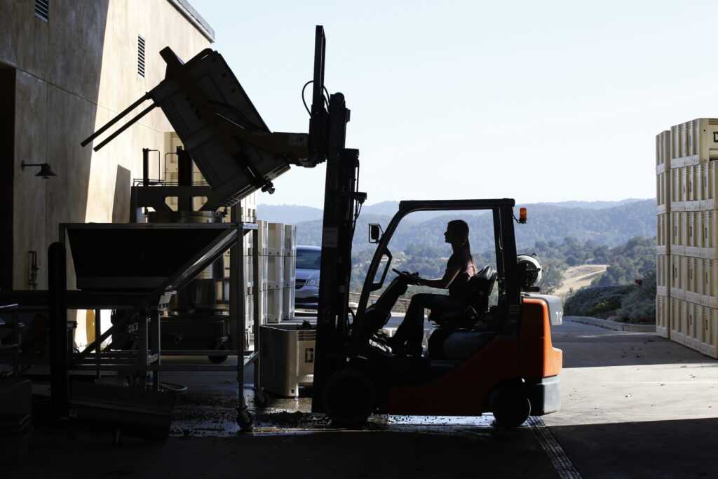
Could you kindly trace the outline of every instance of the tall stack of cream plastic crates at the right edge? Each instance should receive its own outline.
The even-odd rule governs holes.
[[[718,358],[718,118],[673,126],[656,144],[656,330]]]

